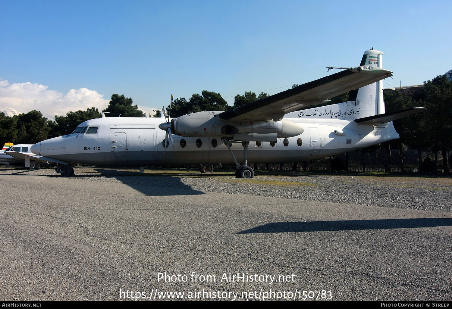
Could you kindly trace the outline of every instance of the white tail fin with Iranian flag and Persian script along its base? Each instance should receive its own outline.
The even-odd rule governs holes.
[[[360,66],[376,66],[383,68],[379,52],[369,49],[364,52]],[[348,100],[344,103],[332,104],[320,108],[310,108],[297,113],[300,118],[336,118],[336,119],[358,119],[385,113],[383,102],[383,81],[369,84],[362,88],[349,92]]]

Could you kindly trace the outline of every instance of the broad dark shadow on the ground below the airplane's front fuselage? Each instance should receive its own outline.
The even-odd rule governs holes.
[[[100,173],[100,176],[103,175],[102,169],[96,169],[97,172]],[[109,170],[105,170],[110,173]],[[162,177],[141,177],[140,174],[137,173],[132,174],[135,177],[131,177],[131,172],[124,173],[113,173],[110,175],[105,175],[107,177],[116,178],[121,183],[147,195],[147,196],[175,196],[175,195],[198,195],[205,194],[202,191],[193,190],[192,187],[184,184],[179,177],[170,177],[170,176],[162,176]],[[99,177],[99,176],[98,176]]]

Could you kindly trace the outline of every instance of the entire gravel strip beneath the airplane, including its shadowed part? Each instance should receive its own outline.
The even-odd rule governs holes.
[[[193,189],[203,192],[280,197],[304,201],[327,201],[344,204],[452,212],[452,178],[386,176],[385,174],[325,175],[287,173],[256,175],[252,179],[235,178],[233,172],[202,175],[196,171],[150,169],[140,175],[134,169],[75,168],[76,178],[89,181],[122,182],[172,190]],[[0,169],[0,174],[14,172]],[[53,169],[24,174],[60,177]],[[301,176],[298,176],[301,175]]]

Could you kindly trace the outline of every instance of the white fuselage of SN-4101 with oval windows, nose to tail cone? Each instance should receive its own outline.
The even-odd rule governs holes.
[[[392,122],[381,126],[360,125],[350,120],[313,119],[289,114],[286,118],[304,129],[298,136],[278,138],[276,143],[250,142],[248,162],[300,162],[338,155],[399,137]],[[286,115],[288,116],[288,115]],[[83,133],[55,137],[33,145],[37,155],[95,166],[157,166],[194,164],[234,164],[220,138],[173,135],[164,152],[162,118],[102,117],[83,122]],[[90,128],[93,128],[90,130]],[[95,129],[97,128],[97,130]],[[339,132],[339,134],[335,133]],[[93,133],[95,131],[95,133]],[[237,161],[243,147],[233,143]]]

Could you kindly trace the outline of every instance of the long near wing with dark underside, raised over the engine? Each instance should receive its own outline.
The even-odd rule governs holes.
[[[288,112],[327,102],[336,95],[372,84],[392,73],[375,66],[357,66],[222,112],[218,116],[235,122],[267,119],[279,121]]]

